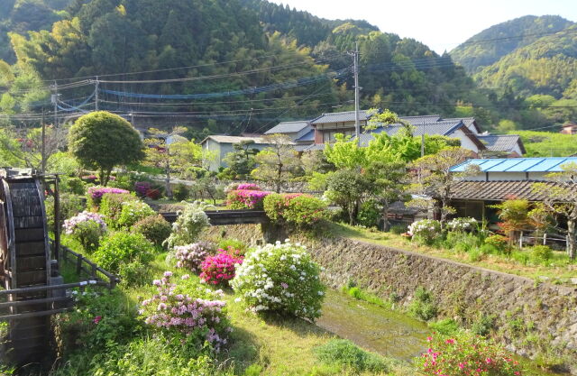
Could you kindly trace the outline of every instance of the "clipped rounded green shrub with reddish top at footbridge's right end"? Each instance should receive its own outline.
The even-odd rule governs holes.
[[[312,225],[325,217],[323,200],[300,193],[271,193],[264,197],[264,211],[272,222]]]

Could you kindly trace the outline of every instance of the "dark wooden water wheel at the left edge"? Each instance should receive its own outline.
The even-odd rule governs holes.
[[[32,176],[0,176],[0,283],[4,289],[50,284],[44,190],[40,179]],[[50,303],[42,300],[48,298],[47,289],[8,295],[7,301],[14,303],[8,314],[19,316],[8,321],[5,347],[11,349],[7,353],[11,362],[40,362],[46,354],[50,316],[34,313],[50,309]]]

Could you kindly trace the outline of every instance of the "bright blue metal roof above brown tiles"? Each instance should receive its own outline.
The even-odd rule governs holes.
[[[577,163],[577,157],[465,160],[453,166],[451,171],[463,172],[469,165],[476,164],[483,172],[559,172],[566,163]]]

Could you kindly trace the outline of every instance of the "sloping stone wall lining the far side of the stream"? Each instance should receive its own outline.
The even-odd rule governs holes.
[[[226,237],[254,244],[263,241],[260,230],[259,225],[213,227],[207,236],[215,239],[224,231]],[[577,374],[575,288],[346,238],[299,240],[325,267],[325,282],[333,288],[354,280],[381,298],[394,292],[407,306],[423,286],[433,293],[441,317],[471,326],[482,315],[494,316],[496,335],[508,349],[563,363],[562,368]]]

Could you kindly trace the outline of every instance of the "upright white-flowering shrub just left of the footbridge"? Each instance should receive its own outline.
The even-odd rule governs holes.
[[[199,201],[183,204],[184,209],[177,212],[179,217],[172,224],[172,234],[166,240],[169,247],[195,243],[202,230],[210,225],[205,213],[206,204]]]

